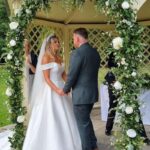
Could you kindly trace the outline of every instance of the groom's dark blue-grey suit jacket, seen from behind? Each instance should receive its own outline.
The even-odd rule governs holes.
[[[68,79],[64,92],[72,88],[73,103],[92,104],[98,100],[98,70],[100,56],[89,43],[74,50],[70,59]]]

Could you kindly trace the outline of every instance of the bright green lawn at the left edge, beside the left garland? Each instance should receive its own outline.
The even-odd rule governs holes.
[[[8,77],[8,72],[5,67],[0,65],[0,127],[11,124],[10,114],[8,113],[8,98],[5,95],[6,91],[6,79]]]

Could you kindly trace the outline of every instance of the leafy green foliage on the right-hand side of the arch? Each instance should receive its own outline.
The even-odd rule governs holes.
[[[125,7],[122,6],[126,2]],[[119,134],[116,134],[113,145],[116,150],[141,149],[143,138],[140,136],[142,130],[139,124],[138,95],[143,86],[150,83],[148,75],[144,77],[138,72],[142,62],[144,44],[141,43],[141,33],[143,28],[136,22],[136,11],[132,9],[132,0],[96,0],[95,7],[99,11],[107,14],[111,21],[115,22],[118,37],[123,43],[119,48],[112,44],[108,53],[115,55],[118,67],[113,70],[117,81],[121,83],[121,89],[114,88],[118,95],[118,118],[120,127]],[[135,1],[134,1],[135,2]],[[128,7],[129,6],[129,7]],[[113,42],[112,42],[113,43]],[[131,108],[129,113],[127,108]],[[129,114],[128,114],[129,113]],[[135,137],[127,134],[129,129],[136,133]]]

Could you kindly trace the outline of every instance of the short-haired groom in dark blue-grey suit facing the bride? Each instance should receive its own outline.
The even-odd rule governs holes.
[[[73,109],[82,149],[98,150],[90,113],[98,100],[100,56],[88,43],[88,33],[85,28],[74,30],[73,42],[76,50],[71,56],[69,74],[62,93],[69,93],[72,89]]]

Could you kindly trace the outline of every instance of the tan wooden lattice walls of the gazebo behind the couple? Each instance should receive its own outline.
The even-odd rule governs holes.
[[[38,54],[43,39],[55,32],[59,37],[62,50],[65,52],[66,63],[68,63],[70,57],[69,54],[73,49],[72,32],[78,27],[79,25],[65,26],[63,24],[54,24],[42,20],[33,21],[27,29],[27,37],[31,42],[31,50],[34,50]],[[107,49],[111,46],[112,41],[112,36],[110,37],[106,32],[111,32],[112,35],[114,35],[114,32],[112,32],[112,30],[103,30],[103,28],[101,29],[98,25],[94,27],[90,25],[90,27],[87,27],[87,30],[89,32],[89,42],[93,47],[98,49],[102,59],[101,66],[105,67],[108,58]],[[143,66],[145,66],[144,68],[146,68],[146,70],[150,70],[150,26],[145,27],[141,36],[143,43],[145,43]]]

